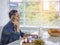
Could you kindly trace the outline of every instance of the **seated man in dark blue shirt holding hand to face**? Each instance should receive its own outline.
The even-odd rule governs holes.
[[[19,14],[17,10],[11,10],[9,12],[10,21],[3,27],[1,45],[6,45],[15,40],[18,40],[19,37],[25,37],[29,34],[21,32],[19,26]]]

